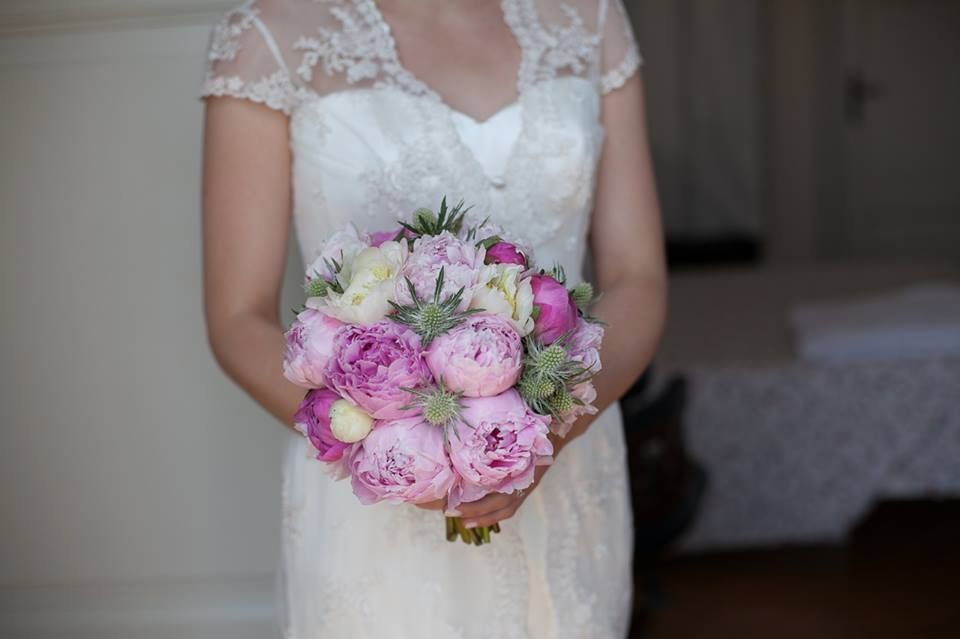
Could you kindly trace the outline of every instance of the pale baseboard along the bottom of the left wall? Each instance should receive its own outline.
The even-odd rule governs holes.
[[[232,637],[279,634],[272,575],[0,588],[0,636]]]

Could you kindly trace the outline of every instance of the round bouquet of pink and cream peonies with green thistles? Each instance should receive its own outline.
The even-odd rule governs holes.
[[[349,225],[307,268],[283,361],[309,389],[295,424],[364,504],[523,490],[552,462],[548,434],[596,412],[593,288],[466,213],[444,200],[394,230]],[[447,518],[451,541],[491,532]]]

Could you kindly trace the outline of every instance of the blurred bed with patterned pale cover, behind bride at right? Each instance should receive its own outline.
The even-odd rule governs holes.
[[[656,378],[689,381],[688,446],[710,480],[681,550],[838,542],[877,499],[960,496],[960,357],[821,362],[798,356],[791,330],[806,302],[829,308],[923,283],[957,287],[960,262],[672,277]]]

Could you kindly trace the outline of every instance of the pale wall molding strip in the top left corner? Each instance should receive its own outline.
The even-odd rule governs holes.
[[[0,37],[209,21],[238,0],[5,0]]]

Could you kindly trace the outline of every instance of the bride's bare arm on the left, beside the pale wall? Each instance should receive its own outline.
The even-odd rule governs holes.
[[[217,362],[290,425],[305,391],[281,371],[278,314],[290,220],[287,118],[234,98],[207,100],[203,299]]]

